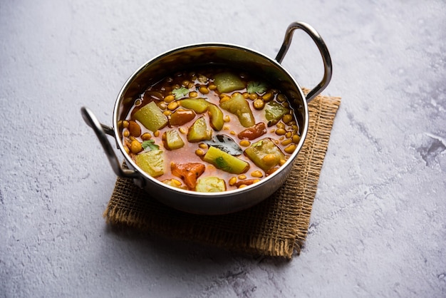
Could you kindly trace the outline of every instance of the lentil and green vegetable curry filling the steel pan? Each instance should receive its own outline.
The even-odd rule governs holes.
[[[286,162],[300,139],[284,93],[229,68],[163,78],[135,99],[118,125],[141,170],[197,192],[258,183]]]

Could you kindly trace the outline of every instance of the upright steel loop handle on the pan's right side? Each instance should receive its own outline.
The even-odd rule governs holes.
[[[316,87],[311,89],[311,91],[306,95],[306,101],[310,102],[313,98],[315,98],[319,93],[323,91],[323,89],[328,86],[328,83],[330,83],[331,80],[331,74],[333,72],[332,66],[331,66],[331,57],[330,53],[328,53],[328,48],[321,38],[321,36],[318,34],[318,32],[313,29],[310,25],[304,23],[304,22],[294,22],[291,23],[288,26],[288,29],[286,29],[284,42],[282,43],[282,46],[279,50],[279,53],[277,53],[276,61],[281,63],[281,61],[284,59],[284,56],[286,52],[288,51],[288,48],[291,44],[291,39],[293,38],[294,30],[296,29],[302,29],[308,34],[311,39],[313,39],[314,43],[316,43],[316,46],[318,46],[319,51],[321,52],[322,60],[323,60],[323,67],[324,67],[324,73],[321,83],[318,83]]]

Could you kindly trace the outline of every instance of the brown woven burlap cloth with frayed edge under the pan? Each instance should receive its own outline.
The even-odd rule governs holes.
[[[308,108],[308,135],[289,179],[259,205],[229,215],[191,215],[162,205],[128,178],[118,178],[104,212],[112,225],[136,227],[252,255],[299,254],[341,98],[317,96]]]

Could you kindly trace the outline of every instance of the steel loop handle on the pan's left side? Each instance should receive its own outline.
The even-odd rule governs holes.
[[[102,145],[102,148],[105,151],[105,155],[107,155],[108,161],[110,162],[110,165],[113,168],[115,174],[123,178],[140,178],[140,176],[135,170],[121,168],[120,163],[118,162],[118,158],[116,157],[115,151],[113,150],[113,147],[108,141],[107,135],[105,135],[105,133],[107,133],[108,135],[112,135],[114,137],[113,128],[101,124],[98,118],[96,118],[93,112],[90,111],[90,109],[88,108],[82,107],[81,114],[85,123],[87,123],[87,125],[90,126],[90,128],[93,128],[96,136],[100,141],[100,145]]]

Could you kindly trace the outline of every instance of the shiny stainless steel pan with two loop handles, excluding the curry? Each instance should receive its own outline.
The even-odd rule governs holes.
[[[291,38],[296,29],[302,29],[311,36],[321,52],[324,64],[323,79],[307,96],[304,95],[302,88],[290,73],[280,64],[286,51],[288,51]],[[138,165],[124,150],[124,145],[121,142],[122,135],[118,129],[118,121],[125,119],[129,105],[133,103],[135,96],[142,93],[147,86],[176,70],[209,63],[241,68],[252,73],[261,74],[280,88],[281,91],[284,91],[291,101],[296,118],[299,121],[301,140],[289,160],[279,170],[276,170],[276,172],[264,178],[261,182],[237,190],[205,193],[171,187],[140,170]],[[249,48],[227,43],[198,43],[175,48],[152,58],[152,60],[147,61],[147,63],[135,71],[128,78],[128,81],[125,82],[123,88],[121,88],[113,111],[113,128],[101,124],[88,108],[81,108],[81,113],[85,123],[93,128],[100,143],[103,145],[103,149],[116,175],[123,178],[132,178],[136,185],[147,190],[147,196],[160,200],[160,202],[178,210],[204,215],[226,214],[256,205],[272,195],[284,184],[293,168],[296,156],[304,144],[308,130],[307,103],[328,86],[331,80],[331,73],[330,54],[321,36],[308,24],[295,22],[286,30],[284,42],[275,59]],[[106,135],[115,138],[118,149],[123,154],[125,163],[128,165],[128,169],[121,167],[121,163]]]

